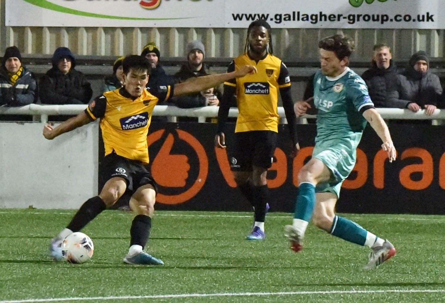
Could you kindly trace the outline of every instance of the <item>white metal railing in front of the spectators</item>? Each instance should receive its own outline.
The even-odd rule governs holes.
[[[56,115],[77,115],[85,110],[86,105],[40,105],[30,104],[22,107],[0,107],[0,115],[32,115],[40,116],[42,123],[48,122],[48,116]],[[406,119],[406,120],[445,120],[445,110],[436,109],[431,116],[425,115],[425,110],[411,112],[401,108],[377,108],[383,119]],[[278,108],[278,114],[285,117],[284,109]],[[198,122],[205,122],[206,118],[218,117],[218,107],[206,106],[202,108],[178,108],[176,106],[156,105],[153,116],[169,117],[197,117]],[[229,117],[238,116],[238,108],[231,108]],[[304,115],[301,118],[315,118],[316,116]],[[282,120],[282,122],[284,122]],[[285,122],[284,122],[285,123]]]

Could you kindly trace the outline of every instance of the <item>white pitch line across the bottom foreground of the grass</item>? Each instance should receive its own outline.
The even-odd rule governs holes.
[[[63,302],[90,300],[125,300],[125,299],[174,299],[174,298],[203,298],[203,297],[241,297],[241,296],[269,296],[269,295],[333,295],[333,294],[377,294],[377,293],[445,293],[445,289],[388,289],[368,291],[281,291],[281,292],[229,292],[214,294],[177,294],[177,295],[129,295],[109,297],[73,297],[51,299],[4,300],[0,303],[33,303],[33,302]]]

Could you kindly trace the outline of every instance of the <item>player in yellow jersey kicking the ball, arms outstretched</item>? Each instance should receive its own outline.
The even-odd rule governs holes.
[[[106,181],[101,193],[88,199],[68,226],[51,242],[50,253],[62,259],[61,242],[67,235],[80,231],[105,208],[112,206],[124,194],[133,192],[130,208],[136,216],[130,229],[130,248],[124,258],[129,264],[164,264],[143,251],[150,235],[151,218],[157,191],[156,182],[146,168],[148,163],[147,134],[154,106],[173,96],[200,92],[235,77],[255,73],[253,66],[243,66],[236,72],[210,75],[192,81],[146,89],[150,62],[142,56],[127,56],[123,62],[125,85],[105,92],[91,101],[84,112],[53,128],[44,126],[43,136],[52,140],[100,118],[105,145],[104,165],[100,171]]]

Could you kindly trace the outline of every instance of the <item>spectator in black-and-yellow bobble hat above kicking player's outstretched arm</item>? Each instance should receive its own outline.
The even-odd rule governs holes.
[[[154,42],[148,43],[142,49],[141,56],[146,57],[151,64],[151,72],[148,78],[147,88],[174,84],[172,76],[168,76],[160,63],[161,53]]]

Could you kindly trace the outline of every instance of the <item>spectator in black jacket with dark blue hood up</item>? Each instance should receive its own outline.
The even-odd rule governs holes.
[[[93,95],[91,84],[84,74],[74,69],[76,58],[69,48],[57,48],[52,63],[53,68],[39,84],[42,104],[88,104]]]

